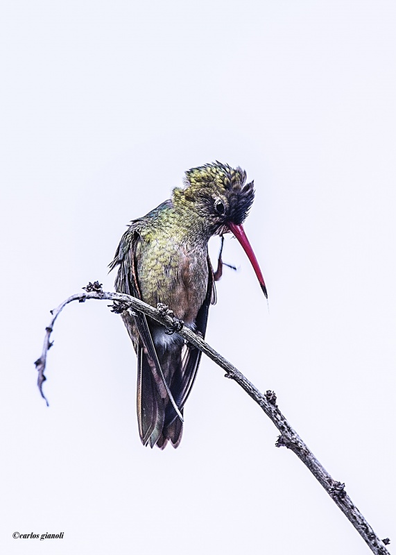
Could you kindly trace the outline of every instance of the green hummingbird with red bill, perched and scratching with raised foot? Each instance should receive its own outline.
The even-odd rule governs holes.
[[[146,216],[132,220],[123,234],[110,270],[119,266],[115,289],[147,302],[163,303],[176,318],[205,338],[209,305],[216,302],[214,282],[221,278],[221,253],[213,270],[208,241],[231,232],[255,270],[267,298],[266,285],[243,221],[255,198],[246,171],[214,162],[185,172],[175,187]],[[221,249],[222,250],[222,249]],[[137,419],[143,445],[178,447],[184,404],[191,393],[201,352],[177,332],[142,313],[121,314],[137,353]]]

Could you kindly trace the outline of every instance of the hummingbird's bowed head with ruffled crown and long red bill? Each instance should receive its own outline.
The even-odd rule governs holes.
[[[173,198],[177,200],[177,197],[200,221],[205,222],[209,236],[227,232],[234,234],[248,255],[261,289],[267,296],[264,278],[242,226],[255,199],[254,182],[246,183],[246,171],[240,167],[233,169],[221,162],[189,169],[184,188],[173,191]]]

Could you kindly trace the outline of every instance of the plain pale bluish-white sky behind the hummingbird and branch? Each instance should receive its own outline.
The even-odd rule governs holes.
[[[396,543],[396,8],[391,1],[13,1],[1,42],[3,553],[360,554],[360,536],[203,357],[178,450],[144,448],[136,357],[99,280],[125,225],[215,159],[246,233],[207,340]],[[218,240],[212,252],[216,255]],[[62,540],[12,533],[64,532]],[[394,549],[391,544],[390,548]]]

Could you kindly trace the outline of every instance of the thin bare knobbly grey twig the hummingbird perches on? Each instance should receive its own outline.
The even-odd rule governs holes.
[[[251,383],[249,380],[239,372],[235,366],[232,366],[230,362],[228,362],[224,357],[218,354],[210,345],[208,345],[205,341],[203,341],[200,336],[191,332],[188,327],[182,326],[180,321],[177,321],[172,311],[167,309],[165,305],[159,305],[158,309],[147,305],[146,302],[143,302],[135,297],[131,297],[124,293],[110,293],[107,291],[101,290],[101,284],[98,282],[94,282],[94,284],[89,283],[86,288],[87,293],[80,293],[79,295],[73,295],[61,305],[59,305],[56,309],[51,311],[53,314],[53,318],[49,325],[46,327],[46,335],[44,338],[44,346],[42,350],[42,355],[40,359],[35,361],[35,366],[38,371],[38,379],[37,385],[40,389],[40,393],[42,397],[46,400],[46,397],[42,391],[42,385],[46,379],[44,376],[44,371],[46,368],[46,353],[48,352],[49,348],[51,348],[52,344],[50,341],[51,333],[53,331],[53,325],[55,323],[56,318],[58,318],[62,309],[74,300],[78,300],[78,302],[85,302],[85,300],[89,299],[97,299],[97,300],[112,300],[113,305],[112,311],[121,313],[125,310],[134,309],[137,311],[141,311],[146,316],[153,318],[153,320],[159,322],[160,324],[164,325],[168,330],[177,330],[177,333],[180,334],[186,341],[197,347],[199,350],[205,353],[210,359],[212,359],[218,366],[225,370],[226,374],[225,377],[230,379],[234,379],[234,381],[243,388],[248,395],[259,404],[261,409],[266,413],[266,415],[273,421],[275,426],[280,432],[279,437],[277,438],[276,446],[277,447],[287,447],[293,453],[295,453],[298,458],[304,463],[307,468],[312,472],[313,476],[320,482],[320,484],[325,488],[327,493],[332,497],[334,503],[343,511],[345,516],[348,520],[353,524],[356,530],[360,533],[365,543],[367,543],[368,547],[372,550],[373,553],[376,555],[389,555],[388,550],[386,549],[385,545],[390,543],[388,538],[384,540],[380,540],[377,534],[374,532],[370,524],[365,520],[363,515],[360,513],[359,509],[354,505],[352,499],[347,495],[345,491],[345,484],[341,484],[341,482],[334,480],[325,468],[320,464],[318,459],[313,455],[313,453],[309,450],[307,445],[302,441],[300,436],[295,432],[295,430],[291,427],[289,422],[283,416],[281,411],[277,406],[277,399],[276,395],[273,391],[266,391],[266,394],[263,395],[260,391]],[[46,404],[48,405],[48,401],[46,400]]]

